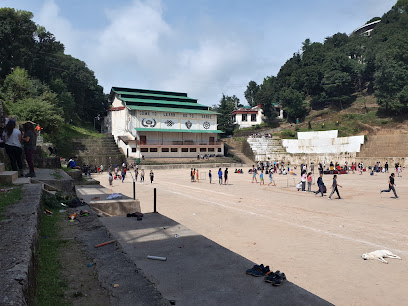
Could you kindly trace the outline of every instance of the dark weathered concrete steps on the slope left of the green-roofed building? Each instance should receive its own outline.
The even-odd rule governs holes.
[[[79,165],[103,165],[107,169],[109,164],[122,164],[126,160],[112,135],[104,135],[101,138],[75,138],[72,146]]]

